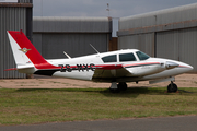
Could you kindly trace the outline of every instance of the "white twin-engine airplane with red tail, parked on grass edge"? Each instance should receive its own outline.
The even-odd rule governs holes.
[[[170,81],[167,92],[176,92],[174,76],[193,70],[184,62],[151,58],[137,49],[111,51],[78,58],[44,59],[22,31],[8,31],[16,68],[21,73],[61,76],[112,83],[109,90],[127,90],[126,82]],[[117,84],[118,83],[118,84]]]

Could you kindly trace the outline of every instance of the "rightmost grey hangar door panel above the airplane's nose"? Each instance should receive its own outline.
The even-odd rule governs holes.
[[[186,62],[197,73],[197,28],[157,33],[155,47],[155,57]]]

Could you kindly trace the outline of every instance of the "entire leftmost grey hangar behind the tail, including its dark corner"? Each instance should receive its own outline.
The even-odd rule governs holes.
[[[8,39],[7,31],[20,31],[32,38],[32,0],[0,1],[0,79],[25,78],[18,71],[4,71],[15,68],[15,61]]]

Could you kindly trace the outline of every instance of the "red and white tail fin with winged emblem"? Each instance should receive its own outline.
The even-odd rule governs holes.
[[[16,66],[33,63],[36,69],[57,68],[48,63],[22,31],[8,31]]]

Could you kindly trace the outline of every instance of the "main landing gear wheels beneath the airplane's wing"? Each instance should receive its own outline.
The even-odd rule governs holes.
[[[127,83],[126,82],[119,82],[118,84],[116,82],[113,82],[109,87],[112,93],[119,93],[120,91],[127,90]]]

